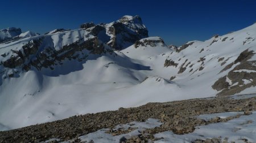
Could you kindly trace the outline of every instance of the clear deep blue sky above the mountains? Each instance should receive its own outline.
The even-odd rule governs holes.
[[[254,0],[1,0],[0,7],[0,29],[19,27],[23,32],[38,33],[139,15],[149,36],[160,36],[174,45],[204,41],[214,34],[237,31],[256,22]]]

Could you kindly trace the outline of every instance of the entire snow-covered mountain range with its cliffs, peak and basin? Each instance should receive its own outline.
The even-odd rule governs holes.
[[[139,16],[0,44],[0,128],[256,91],[256,24],[167,46]]]

